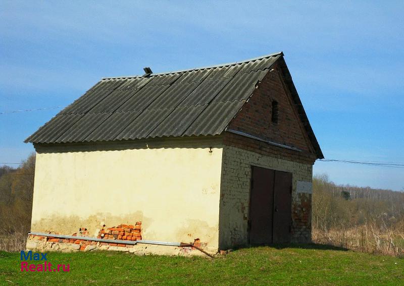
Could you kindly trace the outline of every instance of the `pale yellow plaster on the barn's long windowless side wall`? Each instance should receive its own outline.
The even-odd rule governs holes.
[[[38,153],[31,231],[142,221],[142,239],[218,249],[222,147]]]

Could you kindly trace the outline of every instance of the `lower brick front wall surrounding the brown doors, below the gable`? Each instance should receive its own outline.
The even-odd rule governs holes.
[[[302,163],[225,145],[219,212],[219,248],[248,244],[251,165],[292,173],[292,242],[311,242],[311,194],[297,193],[297,181],[312,182],[312,163]]]

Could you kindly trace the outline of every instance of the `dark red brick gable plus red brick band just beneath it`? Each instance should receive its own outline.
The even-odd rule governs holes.
[[[225,133],[224,144],[255,151],[264,155],[275,156],[303,163],[314,163],[314,147],[301,123],[297,107],[290,91],[280,76],[280,69],[275,65],[274,71],[268,73],[249,100],[243,105],[236,117],[230,122],[229,129],[293,146],[302,152],[285,149],[244,136]],[[272,102],[278,102],[278,123],[272,123]]]

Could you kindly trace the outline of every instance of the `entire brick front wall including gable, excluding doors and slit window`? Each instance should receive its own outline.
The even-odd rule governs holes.
[[[223,134],[222,181],[219,214],[220,249],[248,243],[247,221],[251,165],[292,173],[292,242],[311,242],[311,194],[298,193],[297,181],[312,182],[314,147],[298,116],[280,69],[273,66],[257,85],[229,130],[298,148],[268,144],[231,132]],[[273,123],[272,102],[278,102],[278,120]]]

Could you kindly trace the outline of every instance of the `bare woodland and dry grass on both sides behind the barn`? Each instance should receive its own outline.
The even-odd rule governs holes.
[[[0,167],[0,249],[25,248],[30,231],[35,154],[19,167]],[[315,175],[312,195],[315,243],[404,255],[404,192],[336,185]]]

